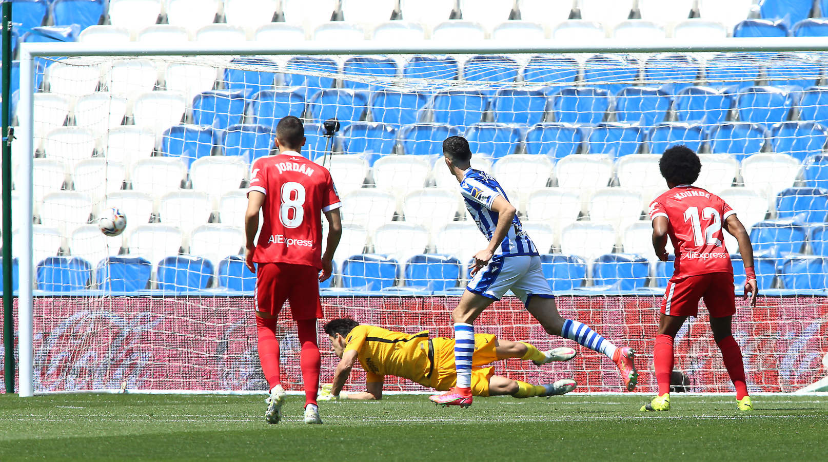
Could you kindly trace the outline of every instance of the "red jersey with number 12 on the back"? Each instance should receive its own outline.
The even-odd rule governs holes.
[[[667,233],[676,249],[673,278],[709,272],[733,272],[724,248],[724,220],[733,209],[718,195],[692,185],[679,185],[650,204],[650,219],[667,217]]]

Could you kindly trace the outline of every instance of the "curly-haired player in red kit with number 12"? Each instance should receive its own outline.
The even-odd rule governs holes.
[[[692,185],[701,171],[696,152],[685,146],[671,147],[658,166],[670,190],[650,204],[652,247],[658,259],[667,262],[665,246],[669,236],[676,249],[676,266],[662,300],[653,354],[658,396],[641,410],[670,410],[673,339],[687,316],[698,315],[699,300],[703,298],[710,312],[710,329],[736,388],[736,406],[740,411],[748,411],[753,405],[744,381],[742,350],[730,330],[736,313],[733,266],[724,248],[722,229],[733,234],[739,243],[747,275],[744,297],[750,296],[750,303],[755,306],[758,289],[750,238],[734,209],[719,196]]]

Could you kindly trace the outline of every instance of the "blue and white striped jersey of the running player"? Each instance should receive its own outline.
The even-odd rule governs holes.
[[[460,182],[460,193],[465,200],[466,209],[469,209],[480,232],[491,240],[494,229],[498,226],[498,214],[492,211],[494,198],[502,195],[509,200],[506,192],[500,187],[498,180],[484,171],[469,168],[463,174],[463,181]],[[494,253],[495,256],[510,257],[515,255],[537,255],[535,243],[528,234],[523,231],[520,219],[515,216],[512,219],[512,226],[503,243]]]

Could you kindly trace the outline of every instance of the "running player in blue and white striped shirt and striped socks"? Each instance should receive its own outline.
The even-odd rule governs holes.
[[[480,232],[489,239],[489,246],[474,255],[474,261],[469,265],[472,280],[451,313],[455,322],[457,383],[448,392],[432,396],[431,401],[443,406],[471,405],[472,323],[486,307],[500,300],[510,289],[547,334],[575,340],[586,348],[609,356],[621,370],[628,391],[633,391],[638,381],[633,363],[635,351],[616,347],[588,325],[561,318],[555,296],[543,277],[541,257],[535,244],[523,231],[517,210],[509,203],[498,181],[483,171],[471,168],[469,142],[464,137],[446,138],[443,156],[451,174],[460,181],[466,208]],[[529,349],[523,359],[544,363],[546,358],[537,349]]]

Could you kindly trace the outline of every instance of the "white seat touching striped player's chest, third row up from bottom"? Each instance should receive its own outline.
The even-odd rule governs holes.
[[[419,224],[436,234],[445,224],[454,221],[459,205],[456,190],[425,188],[402,198],[402,214],[407,223]]]

